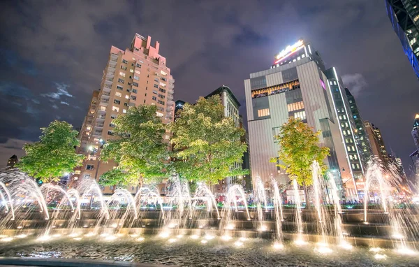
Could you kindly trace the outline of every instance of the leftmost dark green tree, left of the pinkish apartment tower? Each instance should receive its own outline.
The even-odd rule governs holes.
[[[80,144],[78,131],[58,120],[41,130],[38,142],[24,145],[26,156],[16,166],[42,182],[58,182],[65,173],[82,165],[84,155],[75,152],[75,146]]]

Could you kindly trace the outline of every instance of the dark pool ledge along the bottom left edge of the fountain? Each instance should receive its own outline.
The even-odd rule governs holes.
[[[158,264],[141,264],[128,261],[101,261],[94,259],[57,259],[57,258],[1,258],[0,266],[60,266],[60,267],[157,267]]]

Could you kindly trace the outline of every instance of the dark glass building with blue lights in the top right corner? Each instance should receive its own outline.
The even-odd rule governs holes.
[[[385,0],[385,7],[404,54],[419,78],[419,1]]]

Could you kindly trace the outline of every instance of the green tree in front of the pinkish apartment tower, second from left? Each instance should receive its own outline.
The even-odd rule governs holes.
[[[117,138],[103,145],[101,160],[113,160],[118,166],[101,175],[101,185],[141,185],[165,176],[168,143],[156,111],[154,105],[131,107],[113,120]]]

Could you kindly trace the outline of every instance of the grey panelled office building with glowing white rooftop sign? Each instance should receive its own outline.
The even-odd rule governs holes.
[[[279,147],[274,136],[289,117],[295,117],[306,122],[314,131],[322,131],[320,145],[330,148],[325,164],[339,170],[337,183],[345,187],[347,199],[358,199],[355,175],[351,169],[354,161],[348,157],[344,136],[339,130],[335,101],[330,94],[332,88],[344,94],[341,91],[344,87],[333,74],[328,79],[318,52],[310,43],[300,40],[281,51],[270,69],[251,73],[250,78],[244,80],[253,180],[259,175],[267,182],[270,175],[274,175],[280,183],[288,182],[288,176],[270,159],[278,156]],[[346,108],[341,113],[345,114],[346,120],[349,112]],[[346,136],[352,139],[351,142],[348,140],[352,144],[349,148],[352,151],[353,146],[356,152],[355,138],[349,133]],[[358,165],[361,168],[359,162]]]

